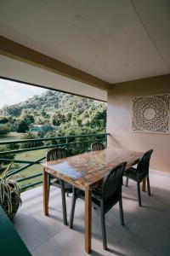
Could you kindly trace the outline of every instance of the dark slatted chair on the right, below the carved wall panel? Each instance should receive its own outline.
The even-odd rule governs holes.
[[[144,180],[145,177],[147,178],[148,195],[150,195],[149,166],[152,152],[153,149],[145,152],[144,155],[140,158],[137,168],[131,167],[127,169],[123,174],[125,177],[127,177],[126,186],[128,184],[128,178],[137,183],[139,207],[141,207],[140,183]]]

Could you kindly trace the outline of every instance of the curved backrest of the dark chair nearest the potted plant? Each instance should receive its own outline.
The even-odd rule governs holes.
[[[52,148],[46,154],[47,161],[59,160],[68,156],[65,148]]]

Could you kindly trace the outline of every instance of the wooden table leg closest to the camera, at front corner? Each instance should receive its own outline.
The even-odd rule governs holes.
[[[92,191],[85,191],[85,252],[91,251],[92,236]]]

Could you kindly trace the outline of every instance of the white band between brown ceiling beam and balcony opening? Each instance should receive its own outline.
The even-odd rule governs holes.
[[[105,90],[100,90],[94,86],[68,79],[59,74],[16,61],[3,55],[0,55],[0,77],[107,102],[107,92]]]

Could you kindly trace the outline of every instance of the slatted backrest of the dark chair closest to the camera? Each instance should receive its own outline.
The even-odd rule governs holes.
[[[105,203],[112,201],[114,195],[122,192],[122,175],[126,165],[127,163],[123,162],[105,175],[101,184],[101,194]]]

